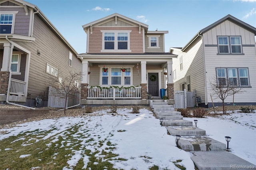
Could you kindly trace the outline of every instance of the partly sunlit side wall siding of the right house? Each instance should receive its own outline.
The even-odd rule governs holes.
[[[174,58],[172,73],[176,70],[176,79],[174,80],[174,90],[180,90],[180,85],[186,82],[190,76],[190,91],[196,90],[196,96],[202,96],[202,103],[205,101],[205,75],[204,75],[204,57],[202,48],[202,38],[197,38],[187,49],[182,52],[174,50],[173,54],[178,55]],[[183,69],[180,70],[180,58],[182,57]],[[187,84],[186,84],[187,86]],[[186,87],[187,89],[187,87]]]

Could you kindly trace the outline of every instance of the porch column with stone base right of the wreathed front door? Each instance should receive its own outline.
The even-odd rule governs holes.
[[[167,61],[167,97],[174,99],[174,83],[172,78],[172,61]]]

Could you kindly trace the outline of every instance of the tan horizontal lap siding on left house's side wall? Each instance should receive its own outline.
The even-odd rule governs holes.
[[[46,63],[58,69],[58,77],[62,79],[69,75],[69,71],[81,71],[81,61],[75,53],[72,53],[72,67],[68,65],[71,50],[38,14],[34,18],[33,36],[36,38],[34,42],[16,42],[31,51],[28,93],[32,94],[32,99],[43,96],[45,91],[47,95],[49,80],[57,79],[46,73]],[[40,55],[37,51],[40,51]]]

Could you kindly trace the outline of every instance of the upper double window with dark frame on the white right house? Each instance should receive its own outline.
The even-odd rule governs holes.
[[[220,54],[242,53],[242,42],[240,36],[218,37],[218,52]]]

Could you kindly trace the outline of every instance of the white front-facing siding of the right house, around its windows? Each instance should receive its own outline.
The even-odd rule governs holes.
[[[241,36],[243,55],[217,55],[218,43],[217,36]],[[244,88],[246,92],[234,96],[235,103],[252,103],[256,102],[256,47],[254,33],[243,27],[226,20],[216,27],[208,30],[203,34],[204,53],[206,64],[206,79],[214,81],[216,79],[216,67],[223,68],[248,68],[250,87]],[[207,46],[216,45],[216,46]],[[243,47],[243,45],[250,45]],[[208,102],[211,102],[210,94],[212,93],[210,84],[207,85]],[[221,102],[220,99],[213,97],[214,102]],[[233,96],[225,100],[226,103],[233,102]]]

